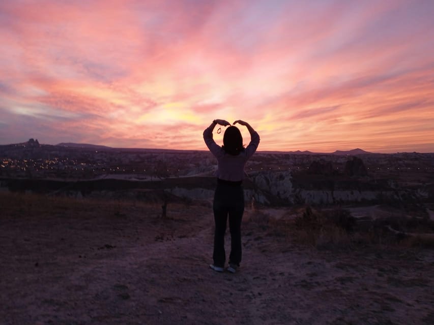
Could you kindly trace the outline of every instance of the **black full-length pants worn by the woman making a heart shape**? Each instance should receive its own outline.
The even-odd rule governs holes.
[[[214,193],[214,265],[224,267],[224,233],[229,216],[230,255],[229,263],[239,265],[241,262],[241,219],[244,213],[244,191],[241,185],[217,184]]]

